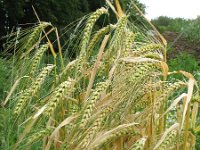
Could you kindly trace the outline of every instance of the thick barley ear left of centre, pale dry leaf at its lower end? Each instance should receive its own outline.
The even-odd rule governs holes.
[[[56,90],[52,93],[49,102],[46,104],[44,113],[50,116],[56,109],[58,103],[64,96],[69,96],[74,91],[75,81],[69,78],[67,81],[62,82]]]

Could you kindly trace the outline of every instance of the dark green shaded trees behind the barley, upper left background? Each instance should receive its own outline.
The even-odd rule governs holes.
[[[139,3],[138,0],[134,1],[144,11],[144,5]],[[6,34],[5,27],[12,29],[19,24],[37,22],[32,6],[34,6],[42,21],[51,22],[60,29],[77,18],[105,5],[105,0],[0,0],[0,2],[1,37]],[[124,10],[129,9],[130,0],[120,0],[120,2]],[[131,13],[131,17],[135,14]],[[116,22],[114,18],[111,17],[108,22]],[[102,21],[105,20],[100,19],[100,22]]]

